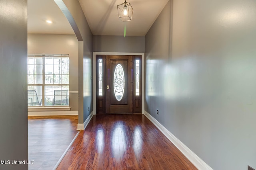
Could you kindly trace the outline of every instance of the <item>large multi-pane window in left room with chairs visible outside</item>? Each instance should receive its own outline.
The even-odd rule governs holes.
[[[68,91],[68,55],[28,55],[28,106],[68,106]]]

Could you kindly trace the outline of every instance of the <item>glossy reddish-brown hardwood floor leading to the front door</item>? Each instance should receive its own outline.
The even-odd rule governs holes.
[[[94,115],[57,170],[196,170],[144,115]]]

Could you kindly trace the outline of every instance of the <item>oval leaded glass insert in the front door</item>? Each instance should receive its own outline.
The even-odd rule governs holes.
[[[114,72],[114,93],[118,101],[124,95],[124,69],[121,64],[117,64]]]

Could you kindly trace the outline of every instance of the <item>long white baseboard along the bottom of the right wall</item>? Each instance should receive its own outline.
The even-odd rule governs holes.
[[[168,131],[161,123],[159,123],[152,115],[144,111],[144,115],[148,117],[154,125],[198,168],[199,170],[213,170],[208,164],[206,164],[201,158],[199,158],[192,150],[184,145],[178,138],[176,138],[170,131]]]

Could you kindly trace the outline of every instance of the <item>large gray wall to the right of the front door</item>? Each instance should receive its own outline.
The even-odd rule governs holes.
[[[146,111],[215,170],[256,168],[255,16],[255,0],[173,0],[145,37]]]

